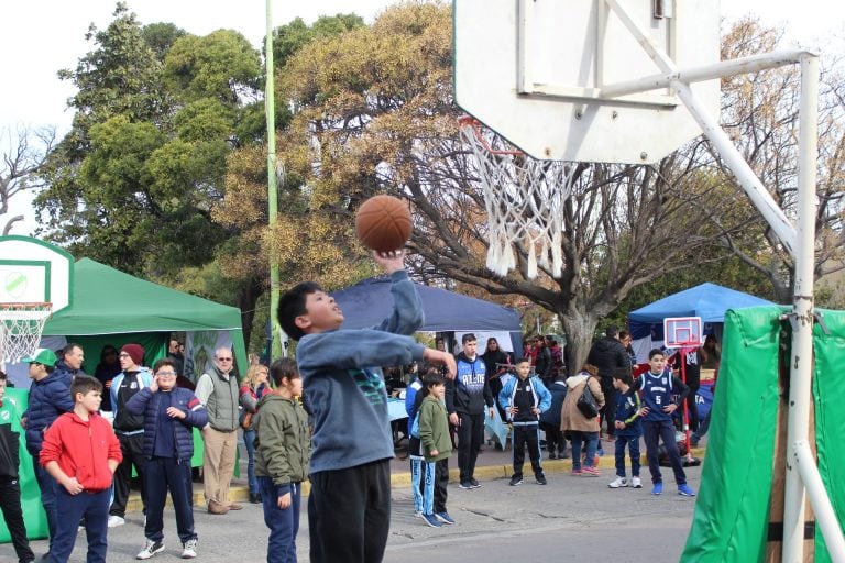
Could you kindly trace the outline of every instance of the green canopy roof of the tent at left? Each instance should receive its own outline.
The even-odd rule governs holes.
[[[73,301],[44,334],[240,330],[241,311],[145,282],[90,258],[74,264]]]

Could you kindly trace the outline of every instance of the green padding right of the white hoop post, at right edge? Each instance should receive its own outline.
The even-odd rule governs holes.
[[[815,445],[819,471],[836,512],[839,530],[845,522],[845,312],[817,311],[822,314],[828,334],[820,324],[813,332],[815,373],[813,400],[815,401]],[[819,526],[815,527],[815,561],[827,562],[831,556]]]

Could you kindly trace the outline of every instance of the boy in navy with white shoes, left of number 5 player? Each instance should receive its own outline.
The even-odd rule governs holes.
[[[616,394],[616,413],[613,422],[616,431],[616,478],[607,486],[611,488],[627,487],[641,488],[639,479],[639,437],[643,435],[643,426],[639,422],[640,401],[637,391],[632,388],[634,380],[630,374],[613,374],[613,387],[619,391]],[[625,477],[625,446],[630,454],[630,483]]]

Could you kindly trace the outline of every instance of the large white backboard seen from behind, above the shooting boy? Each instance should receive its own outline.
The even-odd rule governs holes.
[[[618,1],[678,67],[718,60],[718,0]],[[454,0],[453,19],[458,104],[536,158],[652,163],[701,134],[668,89],[602,98],[660,74],[605,0]],[[718,80],[692,88],[717,114]]]

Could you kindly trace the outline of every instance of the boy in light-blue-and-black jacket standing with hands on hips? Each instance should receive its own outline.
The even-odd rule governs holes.
[[[531,364],[528,358],[517,360],[516,377],[511,378],[498,393],[498,405],[514,427],[512,439],[514,476],[511,486],[523,484],[525,445],[531,460],[534,477],[538,485],[546,485],[546,475],[540,464],[540,413],[549,409],[551,394],[539,377],[528,377]]]

